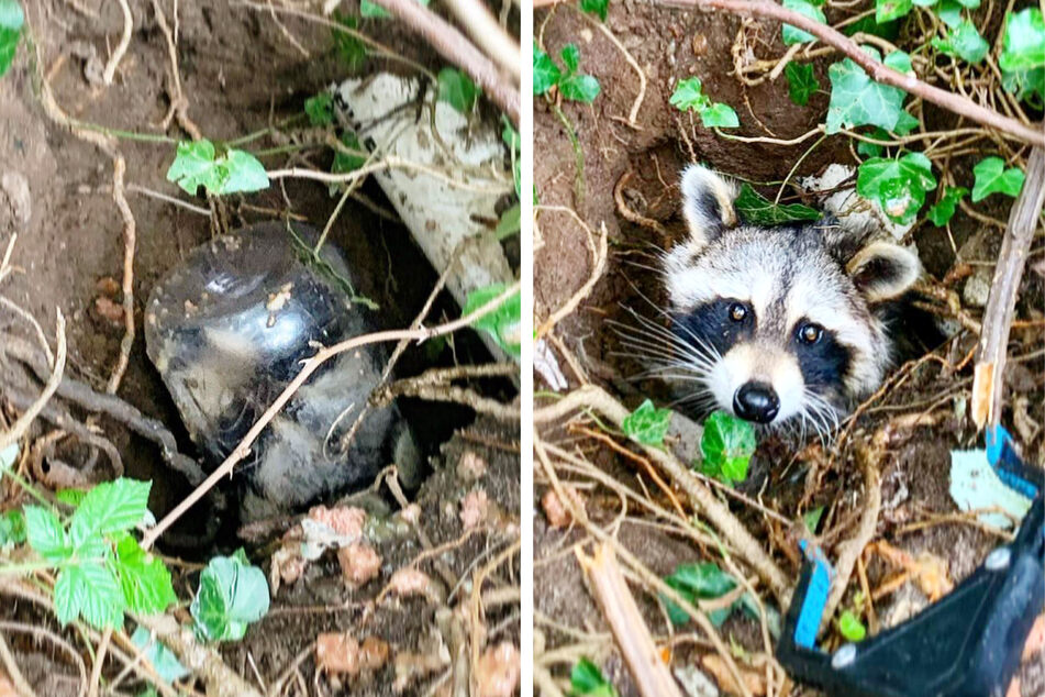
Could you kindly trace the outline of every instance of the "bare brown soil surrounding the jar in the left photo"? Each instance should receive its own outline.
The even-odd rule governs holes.
[[[132,1],[134,31],[115,79],[107,86],[102,66],[123,31],[120,3],[23,4],[29,41],[19,46],[14,66],[0,80],[0,256],[18,233],[11,257],[15,273],[4,279],[3,295],[38,319],[52,345],[56,308],[60,310],[67,321],[66,375],[98,392],[105,390],[124,336],[120,289],[124,225],[113,202],[113,162],[102,150],[48,118],[42,106],[41,80],[45,80],[70,119],[111,130],[126,163],[126,197],[136,223],[133,290],[137,339],[118,395],[141,412],[140,423],[146,430],[153,424],[154,433],[169,431],[181,453],[198,456],[145,355],[145,299],[168,269],[211,237],[215,218],[229,229],[288,217],[323,229],[340,197],[330,193],[324,184],[285,179],[257,195],[231,196],[216,203],[202,198],[188,201],[166,180],[174,143],[189,134],[175,118],[170,55],[155,8],[164,5],[177,43],[179,79],[191,121],[215,142],[266,131],[251,142],[249,150],[264,151],[259,157],[269,169],[286,164],[329,172],[330,148],[322,144],[299,147],[310,137],[307,128],[299,128],[308,123],[302,117],[305,99],[349,75],[409,68],[402,62],[374,56],[362,66],[347,67],[333,38],[333,20],[307,21],[290,3],[180,2],[174,4],[171,15],[169,3]],[[344,10],[358,14],[354,3]],[[518,13],[511,22],[518,29]],[[364,21],[360,30],[379,35],[390,53],[432,73],[444,65],[399,22]],[[210,214],[212,206],[220,209],[220,215]],[[336,245],[351,261],[359,275],[356,291],[380,306],[386,327],[410,325],[436,286],[437,274],[373,181],[342,211],[327,244]],[[458,314],[459,308],[443,292],[436,297],[427,322]],[[35,341],[34,330],[26,327],[23,318],[0,309],[0,331]],[[478,338],[459,332],[409,347],[397,364],[397,376],[415,375],[432,366],[488,361]],[[0,409],[16,407],[0,413],[4,428],[11,422],[9,417],[25,407],[15,403],[14,391],[15,386],[0,384]],[[515,399],[515,391],[507,379],[483,388],[485,396],[504,402]],[[81,407],[69,407],[69,413],[111,441],[123,474],[153,480],[149,507],[157,518],[191,489],[185,477],[167,465],[167,453],[160,452],[155,438],[138,435],[124,419]],[[273,598],[271,612],[242,642],[223,650],[229,665],[256,686],[271,685],[282,676],[285,690],[280,694],[311,694],[311,688],[301,692],[301,686],[318,681],[324,694],[390,695],[397,675],[413,670],[404,688],[409,693],[451,676],[462,679],[458,659],[466,655],[467,668],[471,659],[467,653],[473,650],[478,660],[485,648],[493,652],[505,642],[519,645],[518,429],[475,420],[474,411],[456,405],[433,408],[432,402],[403,398],[400,407],[425,443],[424,455],[432,471],[419,491],[408,493],[419,507],[410,509],[415,519],[405,528],[389,522],[399,520],[394,511],[400,504],[388,487],[378,486],[366,498],[371,518],[378,527],[398,532],[375,542],[381,557],[377,576],[349,590],[336,555],[329,552],[309,566],[303,578],[284,584]],[[53,438],[60,441],[58,435]],[[102,466],[104,454],[92,454],[88,447],[56,447],[41,456],[45,469],[89,462],[97,465],[90,472],[98,479],[119,473],[115,466]],[[459,476],[462,460],[481,463],[481,472]],[[8,500],[13,491],[4,484],[0,500]],[[481,506],[463,520],[465,499]],[[162,540],[160,547],[203,561],[214,553],[230,553],[241,544],[235,521],[229,521],[216,544],[193,546],[193,535],[198,540],[209,528],[211,516],[209,501],[198,505],[185,517],[185,524],[173,530],[170,540],[178,545],[164,547],[166,540]],[[269,569],[267,555],[292,523],[293,519],[271,521],[270,529],[252,539],[255,563]],[[177,560],[171,563],[178,596],[191,598],[200,566]],[[390,576],[405,567],[436,579],[443,596],[379,597]],[[474,574],[479,571],[485,583],[480,580],[474,588]],[[40,694],[77,694],[86,679],[78,674],[82,666],[79,640],[57,626],[46,598],[5,601],[3,608],[0,615],[4,620],[38,627],[44,640],[56,638],[41,643],[40,637],[8,634],[25,677],[38,686]],[[390,653],[363,677],[321,675],[313,643],[324,631],[347,632],[359,642],[369,637],[367,646],[386,642],[385,650]],[[64,651],[74,644],[76,649]],[[422,665],[421,657],[430,650],[438,660]],[[107,678],[122,668],[111,660],[112,653],[109,655],[103,672]],[[411,667],[410,655],[416,666]],[[502,667],[504,655],[505,651],[500,651],[487,665]],[[408,656],[402,666],[398,665],[400,656]],[[512,656],[508,659],[510,664]],[[518,652],[514,660],[518,666]],[[467,671],[464,675],[467,679]]]

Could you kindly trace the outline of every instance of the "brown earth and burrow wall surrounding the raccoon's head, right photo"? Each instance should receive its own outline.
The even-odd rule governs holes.
[[[555,104],[569,128],[546,99],[534,100],[534,181],[541,204],[534,272],[537,324],[563,307],[592,276],[594,255],[588,237],[604,224],[609,239],[605,268],[580,306],[555,325],[547,350],[571,386],[577,384],[580,372],[610,389],[630,409],[645,398],[665,403],[670,400],[663,384],[634,378],[648,366],[643,366],[642,356],[621,351],[613,322],[634,325],[633,311],[655,316],[658,309],[666,308],[657,273],[658,254],[680,240],[685,229],[677,185],[681,168],[693,161],[703,162],[721,173],[752,182],[771,199],[777,186],[767,188],[766,184],[779,185],[789,176],[793,180],[819,175],[832,163],[856,165],[858,161],[846,136],[827,137],[813,148],[810,145],[815,137],[796,145],[738,142],[701,128],[699,120],[669,104],[674,85],[696,76],[712,101],[725,102],[736,110],[741,128],[731,130],[731,135],[788,140],[815,128],[826,111],[825,91],[813,95],[808,106],[798,107],[788,98],[782,76],[751,87],[744,87],[735,76],[737,51],[747,57],[752,51],[759,57],[785,53],[777,23],[630,2],[611,4],[605,27],[647,78],[634,124],[627,121],[640,93],[638,76],[621,48],[597,29],[596,22],[574,8],[558,5],[537,12],[534,26],[542,47],[553,57],[558,56],[567,43],[577,44],[581,56],[579,70],[596,76],[602,88],[591,104],[556,99]],[[826,67],[833,59],[829,56],[813,63],[821,85],[829,85]],[[929,106],[926,119],[934,123],[934,129],[954,128],[952,114]],[[570,130],[576,133],[576,145],[571,143]],[[799,158],[802,161],[792,173]],[[580,159],[582,170],[578,168]],[[967,173],[975,162],[968,157],[957,158],[952,167],[956,173]],[[986,210],[979,210],[1005,220],[1010,204],[1011,199],[994,197],[981,204]],[[556,207],[575,210],[588,230]],[[944,283],[960,294],[961,273],[967,270],[955,272],[956,267],[971,258],[975,264],[992,267],[1001,237],[997,230],[985,234],[980,221],[960,211],[952,221],[950,232],[953,240],[948,240],[944,231],[924,224],[915,228],[909,241],[915,242],[927,273],[946,279]],[[974,244],[975,253],[970,252]],[[970,246],[964,248],[964,245]],[[960,258],[956,257],[956,250],[963,250]],[[1041,248],[1033,254],[1041,255]],[[1004,420],[1009,423],[1040,423],[1045,418],[1041,403],[1032,403],[1045,397],[1042,336],[1040,324],[1035,324],[1042,318],[1043,280],[1041,270],[1029,269],[1021,287],[1018,317],[1027,318],[1030,325],[1038,329],[1015,330],[1012,334],[1010,356],[1016,357],[1011,358],[1007,375]],[[763,476],[753,477],[757,479],[755,484],[748,482],[740,489],[756,497],[759,505],[796,521],[792,525],[800,524],[802,515],[823,507],[818,540],[826,545],[830,555],[835,544],[852,534],[864,505],[864,485],[856,460],[861,444],[869,443],[880,429],[903,418],[910,420],[921,412],[933,413],[925,425],[902,429],[903,436],[878,463],[885,483],[885,504],[875,539],[891,543],[911,557],[931,554],[942,560],[950,580],[960,582],[999,543],[998,536],[975,524],[946,521],[946,516],[956,510],[948,495],[949,453],[981,445],[980,436],[966,416],[971,363],[963,364],[963,358],[974,345],[975,338],[963,333],[937,347],[932,356],[899,369],[892,377],[893,387],[861,412],[851,432],[845,434],[841,452],[820,443],[797,444],[776,438],[760,442],[753,468]],[[538,399],[537,407],[542,403],[551,402]],[[631,487],[636,496],[644,495],[663,509],[672,510],[671,497],[643,469],[645,465],[637,449],[630,447],[630,453],[622,457],[590,439],[585,440],[578,435],[580,427],[575,423],[569,431],[552,430],[544,438],[570,451],[575,457],[582,454],[619,486]],[[581,439],[579,443],[577,439]],[[1045,460],[1040,430],[1025,429],[1018,439],[1029,462]],[[642,506],[638,507],[642,512],[635,512],[631,502],[622,510],[622,493],[605,480],[586,476],[578,469],[576,460],[564,461],[564,457],[566,455],[552,458],[556,468],[565,467],[558,472],[558,478],[572,483],[582,493],[589,523],[614,530],[618,544],[635,554],[649,569],[665,576],[680,564],[716,560],[714,547],[709,550],[701,542],[687,539],[690,532],[681,522],[668,521]],[[541,469],[537,473],[540,499],[552,483]],[[723,500],[730,501],[732,511],[797,582],[800,558],[792,551],[796,540],[788,525],[759,512],[757,507],[731,498]],[[543,641],[548,655],[554,656],[544,666],[565,681],[563,676],[568,675],[572,663],[587,655],[597,662],[603,661],[622,695],[633,695],[635,687],[605,633],[598,606],[582,584],[585,576],[574,556],[563,553],[586,540],[590,538],[580,531],[564,533],[549,527],[547,520],[537,522],[534,599],[538,618],[546,618],[537,626],[538,645]],[[871,589],[896,580],[899,567],[894,561],[885,561],[875,554],[868,554],[867,558],[867,583]],[[671,664],[699,664],[700,655],[711,651],[710,645],[703,638],[686,633],[688,627],[672,627],[667,622],[656,594],[645,583],[640,585],[645,593],[636,595],[640,595],[647,626],[658,645],[672,648]],[[844,607],[853,607],[856,587],[851,587]],[[915,600],[912,601],[911,596]],[[925,604],[923,589],[909,584],[903,593],[885,594],[875,606],[879,617],[889,619]],[[720,633],[724,640],[730,637],[744,646],[746,653],[738,661],[741,667],[765,673],[761,666],[768,656],[757,623],[734,616]],[[680,645],[685,649],[679,649]],[[536,660],[542,664],[540,652]],[[1043,675],[1042,656],[1024,662],[1023,694],[1040,690]]]

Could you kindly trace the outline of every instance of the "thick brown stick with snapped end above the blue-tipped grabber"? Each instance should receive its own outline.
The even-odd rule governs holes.
[[[1009,229],[1001,243],[994,277],[991,280],[983,327],[980,333],[976,377],[972,380],[972,419],[977,428],[1001,420],[1002,392],[1009,331],[1015,311],[1016,294],[1031,241],[1045,206],[1045,151],[1035,147],[1027,161],[1023,190],[1009,213]]]

